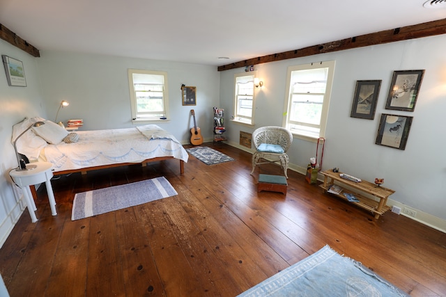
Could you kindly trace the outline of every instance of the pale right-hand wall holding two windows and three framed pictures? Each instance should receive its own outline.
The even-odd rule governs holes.
[[[282,125],[286,68],[319,61],[336,61],[326,131],[323,170],[341,171],[373,181],[385,179],[384,186],[396,191],[392,204],[417,211],[417,219],[446,230],[446,56],[445,36],[435,36],[387,45],[295,58],[255,65],[264,86],[257,90],[254,128],[226,120],[230,141],[237,145],[239,131],[251,133],[257,127]],[[426,70],[414,112],[385,109],[395,70]],[[221,74],[220,105],[229,118],[233,112],[233,74]],[[351,118],[357,80],[381,79],[374,120]],[[376,145],[381,113],[413,116],[406,150]],[[316,143],[295,138],[289,151],[293,167],[305,172],[309,158],[316,155]],[[425,218],[427,217],[427,218]]]

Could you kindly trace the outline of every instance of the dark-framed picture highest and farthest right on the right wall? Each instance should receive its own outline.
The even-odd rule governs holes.
[[[385,109],[413,111],[424,70],[394,71]]]

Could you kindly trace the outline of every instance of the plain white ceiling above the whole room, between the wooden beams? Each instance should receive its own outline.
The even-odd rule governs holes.
[[[0,23],[40,51],[220,66],[446,17],[425,2],[0,0]]]

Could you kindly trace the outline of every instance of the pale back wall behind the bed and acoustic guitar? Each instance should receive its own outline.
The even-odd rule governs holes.
[[[41,51],[36,61],[49,120],[54,121],[61,100],[66,100],[70,106],[59,111],[58,121],[82,118],[84,130],[133,127],[128,69],[158,70],[168,75],[171,120],[157,125],[189,143],[194,109],[203,138],[213,137],[212,108],[220,96],[217,67],[59,51]],[[183,83],[197,87],[196,106],[183,106]]]

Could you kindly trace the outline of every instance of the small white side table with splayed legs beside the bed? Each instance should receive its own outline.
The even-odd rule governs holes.
[[[45,182],[47,186],[49,207],[51,208],[51,214],[56,216],[56,200],[54,199],[53,188],[51,186],[51,178],[53,177],[52,172],[52,163],[49,162],[36,162],[26,164],[27,168],[31,168],[31,166],[35,165],[36,168],[32,168],[29,170],[20,170],[17,171],[15,168],[10,170],[9,175],[14,180],[15,184],[22,188],[24,199],[26,202],[26,206],[28,207],[29,215],[31,216],[31,221],[33,223],[37,222],[36,213],[34,211],[37,210],[36,204],[33,200],[33,195],[31,195],[31,190],[29,186],[33,184],[40,184]]]

